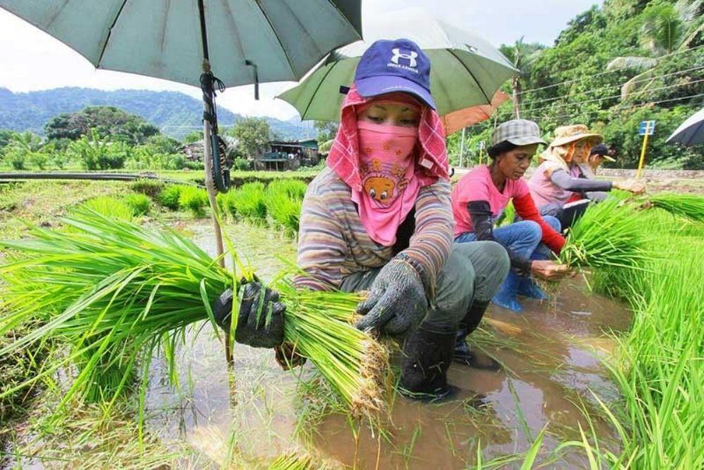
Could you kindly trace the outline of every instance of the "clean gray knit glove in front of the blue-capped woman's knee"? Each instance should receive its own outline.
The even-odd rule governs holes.
[[[396,256],[379,271],[369,297],[358,304],[357,313],[364,318],[356,326],[403,337],[422,321],[427,311],[428,301],[417,268]]]

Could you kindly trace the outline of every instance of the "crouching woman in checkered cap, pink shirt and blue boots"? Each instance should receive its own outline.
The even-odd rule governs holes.
[[[508,252],[511,272],[492,300],[513,311],[522,310],[516,295],[547,298],[531,276],[556,280],[567,273],[566,266],[548,259],[551,250],[559,254],[565,245],[560,222],[538,214],[523,179],[539,144],[545,142],[533,121],[517,119],[499,125],[487,149],[491,164],[474,168],[452,191],[455,242],[494,240]],[[494,221],[511,200],[517,216],[524,220],[494,229]]]

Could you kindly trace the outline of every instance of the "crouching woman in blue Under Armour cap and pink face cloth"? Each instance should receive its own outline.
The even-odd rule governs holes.
[[[394,50],[413,55],[414,67],[390,67]],[[306,275],[296,278],[301,288],[368,291],[356,326],[401,342],[401,392],[422,400],[452,395],[446,374],[458,327],[479,322],[508,273],[496,243],[453,249],[429,72],[429,59],[407,39],[377,41],[361,58],[327,168],[303,199],[298,267]],[[265,297],[281,310],[274,292]],[[266,342],[253,336],[249,344],[280,345],[282,323],[275,326]]]

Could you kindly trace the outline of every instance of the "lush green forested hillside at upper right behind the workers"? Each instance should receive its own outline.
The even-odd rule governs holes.
[[[536,120],[546,138],[558,125],[584,123],[616,147],[615,166],[633,168],[638,124],[656,120],[649,164],[704,169],[704,147],[665,144],[704,106],[703,0],[605,0],[570,21],[551,46],[517,42],[502,51],[523,72],[505,91],[516,89],[520,117]],[[513,108],[506,102],[498,122],[512,118]],[[465,148],[476,153],[492,124],[470,128]],[[458,144],[455,135],[451,154]]]

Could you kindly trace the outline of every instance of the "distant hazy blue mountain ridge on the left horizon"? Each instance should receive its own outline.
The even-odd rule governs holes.
[[[86,106],[116,106],[136,114],[161,128],[172,137],[181,138],[201,125],[203,104],[199,99],[179,92],[152,92],[144,89],[103,91],[92,88],[65,87],[40,92],[13,93],[0,88],[0,129],[31,130],[44,133],[44,124],[61,113],[73,113]],[[218,108],[222,126],[241,119],[239,114]],[[272,131],[284,138],[306,137],[310,125],[300,121],[267,118]],[[314,134],[314,132],[313,132]]]

